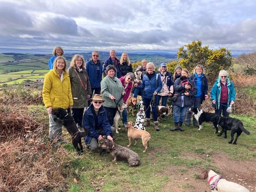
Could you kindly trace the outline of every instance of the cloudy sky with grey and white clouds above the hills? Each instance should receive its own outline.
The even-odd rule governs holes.
[[[255,0],[0,0],[0,48],[255,49]]]

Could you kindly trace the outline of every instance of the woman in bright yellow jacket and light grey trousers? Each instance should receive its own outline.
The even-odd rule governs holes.
[[[49,113],[49,138],[59,143],[66,143],[61,139],[62,124],[55,122],[53,109],[72,109],[73,99],[70,79],[67,73],[67,62],[63,56],[57,56],[53,62],[53,70],[45,75],[43,100]]]

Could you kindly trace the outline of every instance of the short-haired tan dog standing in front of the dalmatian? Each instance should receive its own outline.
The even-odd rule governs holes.
[[[134,124],[132,123],[132,121],[128,122],[127,124],[128,127],[128,139],[129,139],[129,145],[127,147],[130,147],[132,144],[132,139],[135,140],[135,144],[137,144],[137,140],[141,139],[142,140],[142,144],[145,148],[145,150],[143,151],[143,153],[145,153],[147,151],[147,147],[149,147],[149,140],[151,138],[149,132],[145,131],[145,130],[140,130],[140,129],[136,129],[134,128]]]

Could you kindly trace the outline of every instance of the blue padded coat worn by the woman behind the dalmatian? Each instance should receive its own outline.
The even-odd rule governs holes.
[[[160,75],[156,72],[154,72],[154,75],[152,76],[151,80],[149,80],[147,75],[147,72],[143,75],[142,84],[138,85],[137,88],[144,89],[143,98],[151,99],[153,97],[154,92],[159,93],[162,90],[162,81]]]

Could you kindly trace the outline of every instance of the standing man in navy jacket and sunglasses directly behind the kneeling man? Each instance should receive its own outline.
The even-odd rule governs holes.
[[[101,81],[102,81],[102,70],[103,61],[99,60],[99,52],[93,51],[91,53],[91,59],[86,62],[86,70],[90,79],[91,93],[101,93]],[[92,94],[90,98],[92,98]],[[88,100],[88,106],[90,106],[90,100]]]

